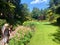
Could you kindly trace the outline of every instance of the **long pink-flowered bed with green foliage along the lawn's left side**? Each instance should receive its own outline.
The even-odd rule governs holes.
[[[32,21],[26,21],[23,23],[24,26],[35,26],[38,24],[37,22],[32,22]],[[30,29],[28,27],[24,27],[20,30],[18,30],[17,34],[15,37],[13,37],[9,41],[9,45],[27,45],[30,42],[31,37],[33,36],[33,29]]]

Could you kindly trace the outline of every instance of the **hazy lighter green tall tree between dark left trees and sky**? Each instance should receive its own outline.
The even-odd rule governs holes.
[[[20,10],[21,10],[21,20],[22,22],[24,22],[24,20],[26,20],[26,17],[29,16],[29,9],[28,9],[28,5],[27,4],[21,4],[20,5]]]

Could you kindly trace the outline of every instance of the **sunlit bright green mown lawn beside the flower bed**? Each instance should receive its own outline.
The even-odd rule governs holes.
[[[49,24],[49,22],[39,22],[39,24],[36,25],[37,30],[31,38],[29,45],[60,45],[54,42],[52,40],[54,37],[51,36],[56,32],[57,27]]]

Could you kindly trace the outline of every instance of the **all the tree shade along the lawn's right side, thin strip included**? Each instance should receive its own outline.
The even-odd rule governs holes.
[[[52,40],[54,42],[60,44],[60,24],[58,24],[58,23],[50,23],[50,24],[44,24],[44,25],[53,25],[53,26],[57,26],[58,27],[56,32],[53,33],[51,36],[53,36]]]

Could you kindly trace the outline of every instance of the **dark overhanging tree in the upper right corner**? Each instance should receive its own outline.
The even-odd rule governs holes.
[[[50,0],[50,9],[54,15],[60,16],[60,0]],[[59,22],[59,19],[57,19],[57,22]]]

